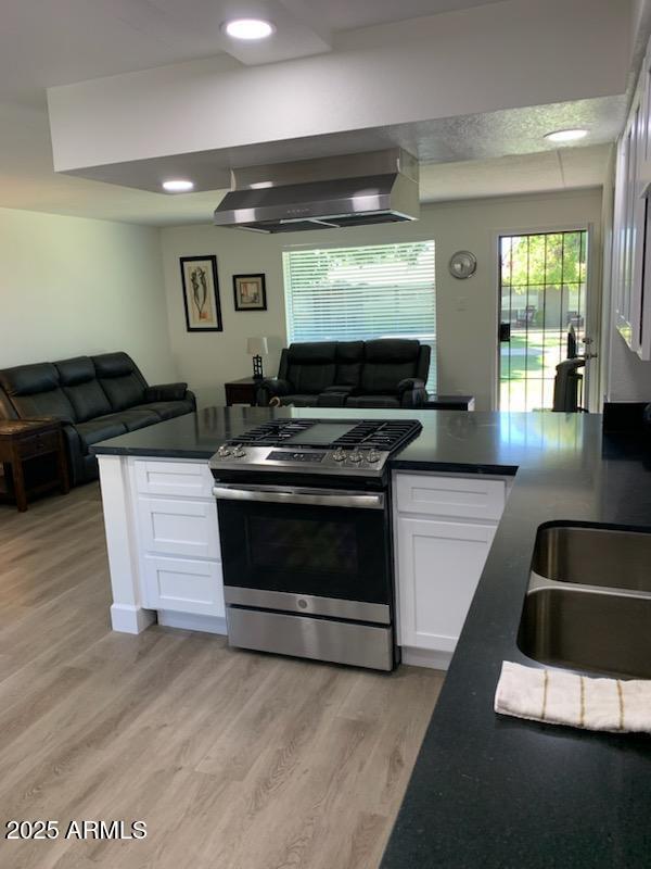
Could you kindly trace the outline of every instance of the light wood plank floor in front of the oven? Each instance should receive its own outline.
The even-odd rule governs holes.
[[[0,840],[11,869],[376,867],[442,676],[108,628],[99,490],[0,506],[0,821],[124,819],[141,841]]]

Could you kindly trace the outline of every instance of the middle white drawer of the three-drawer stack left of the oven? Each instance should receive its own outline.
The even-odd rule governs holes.
[[[220,561],[217,505],[210,501],[139,498],[143,549],[167,555]]]

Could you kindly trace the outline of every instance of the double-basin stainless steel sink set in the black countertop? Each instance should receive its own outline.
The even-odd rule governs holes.
[[[540,528],[518,645],[545,664],[651,678],[651,533]]]

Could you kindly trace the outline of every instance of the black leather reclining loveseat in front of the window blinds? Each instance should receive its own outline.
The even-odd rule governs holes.
[[[430,353],[429,344],[403,338],[290,344],[278,377],[260,382],[257,403],[419,407],[427,399]]]

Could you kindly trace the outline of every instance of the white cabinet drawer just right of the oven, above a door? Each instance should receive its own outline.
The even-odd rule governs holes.
[[[460,519],[499,520],[505,509],[507,484],[477,475],[473,478],[396,476],[400,513]]]

